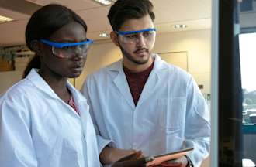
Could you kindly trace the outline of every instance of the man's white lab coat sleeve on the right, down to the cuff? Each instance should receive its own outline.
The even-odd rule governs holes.
[[[195,167],[199,167],[202,160],[209,155],[209,109],[195,80],[191,78],[187,88],[185,145],[194,148],[193,152],[189,154],[189,158]]]

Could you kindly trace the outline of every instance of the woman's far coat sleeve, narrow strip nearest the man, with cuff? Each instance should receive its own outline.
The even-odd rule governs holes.
[[[81,94],[83,94],[85,96],[87,103],[89,105],[92,122],[94,124],[96,136],[97,136],[98,151],[99,151],[99,153],[101,153],[103,148],[105,148],[106,145],[109,145],[110,143],[112,143],[112,141],[108,140],[106,138],[102,138],[102,136],[100,135],[100,131],[99,131],[97,122],[95,120],[95,111],[93,110],[93,106],[92,106],[92,102],[91,102],[91,97],[90,97],[91,91],[92,91],[92,87],[91,87],[91,83],[90,83],[90,78],[87,78],[87,80],[85,80],[85,83],[83,84],[83,86],[81,88]]]

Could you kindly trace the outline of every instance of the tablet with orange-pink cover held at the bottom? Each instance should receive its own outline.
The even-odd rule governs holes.
[[[185,148],[178,150],[177,152],[169,152],[162,155],[154,155],[154,160],[147,162],[147,166],[161,165],[161,162],[169,161],[171,159],[180,158],[184,155],[187,155],[189,152],[192,152],[194,148]]]

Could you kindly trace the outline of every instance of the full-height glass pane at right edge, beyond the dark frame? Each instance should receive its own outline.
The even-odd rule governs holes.
[[[243,158],[256,162],[256,2],[240,2],[240,68],[243,89]],[[248,160],[250,159],[250,160]],[[244,161],[245,162],[245,161]]]

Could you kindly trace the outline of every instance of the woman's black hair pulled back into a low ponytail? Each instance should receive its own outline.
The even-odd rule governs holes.
[[[66,6],[57,4],[43,6],[33,13],[26,25],[26,46],[33,50],[31,43],[34,40],[49,39],[54,32],[71,22],[78,22],[87,32],[84,20]],[[37,55],[26,66],[23,77],[26,77],[32,68],[40,68],[40,59]]]

